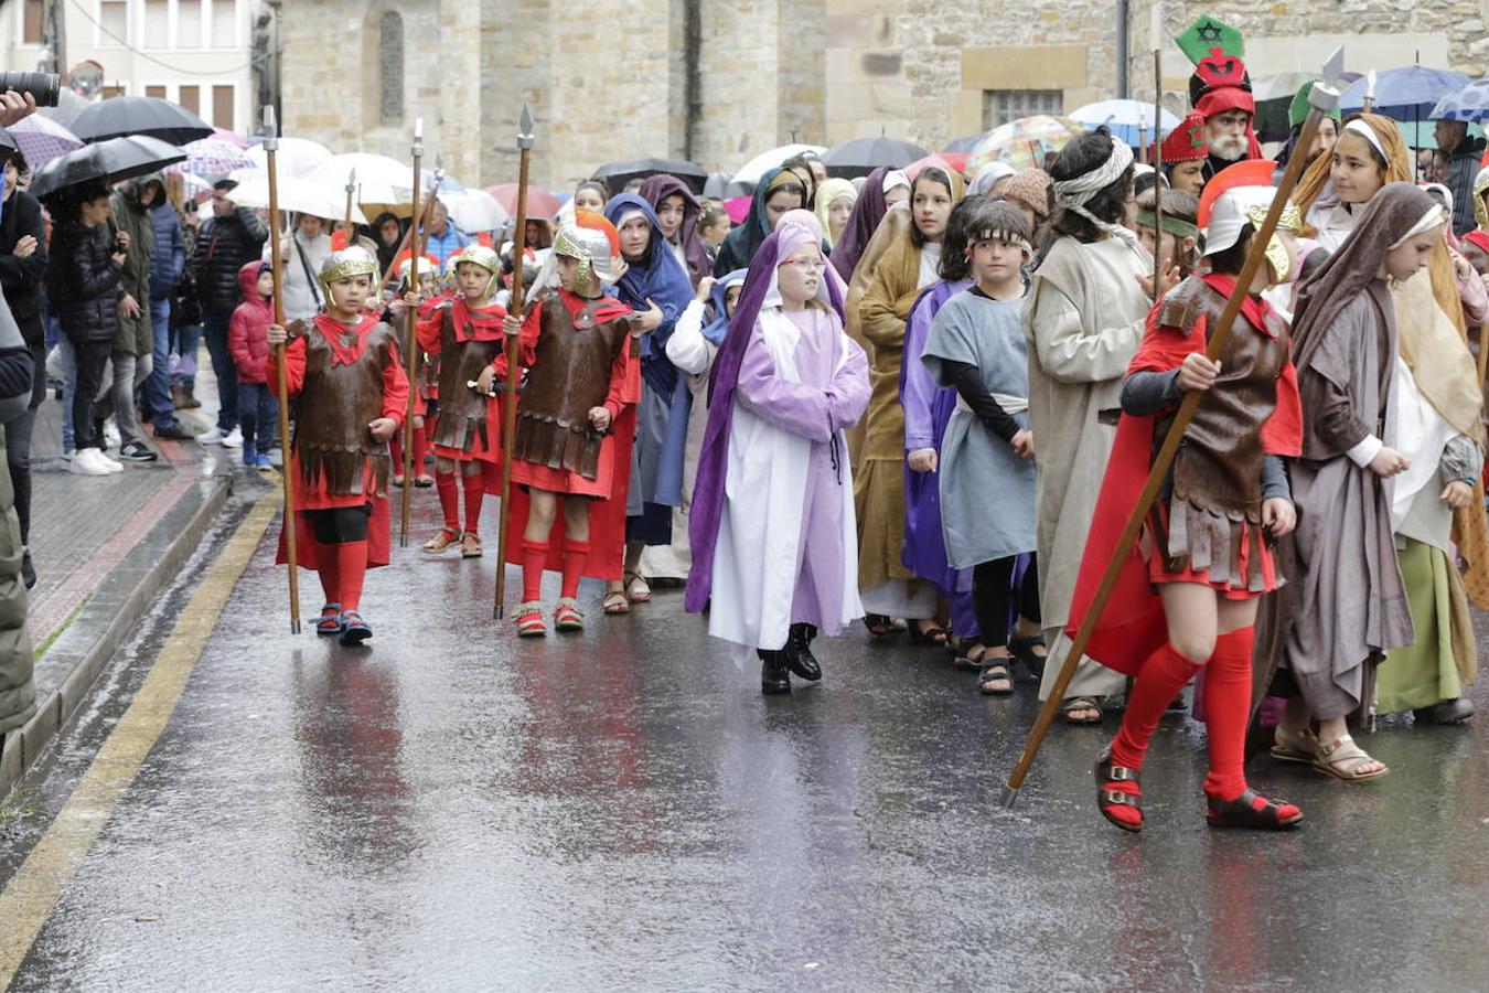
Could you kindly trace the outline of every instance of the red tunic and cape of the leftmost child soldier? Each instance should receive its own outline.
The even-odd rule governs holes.
[[[356,363],[381,362],[381,396],[377,399],[378,411],[381,417],[387,417],[401,426],[404,421],[404,409],[408,403],[408,377],[405,375],[404,363],[399,359],[398,336],[392,332],[392,329],[386,331],[387,353],[383,357],[368,354],[369,339],[374,338],[380,329],[387,329],[387,326],[375,317],[363,316],[362,322],[351,329],[353,333],[350,336],[350,342],[342,344],[339,339],[347,332],[347,326],[326,314],[316,317],[310,331],[307,331],[305,335],[292,339],[284,348],[284,374],[290,397],[304,399],[313,396],[317,389],[326,389],[323,383],[329,377],[348,375],[350,366]],[[322,335],[331,345],[332,359],[328,369],[313,371],[307,377],[305,338],[308,335]],[[353,417],[354,414],[351,411],[341,411],[341,415]],[[386,442],[383,442],[383,445],[386,447]],[[293,451],[293,448],[295,445],[292,444],[289,466],[286,470],[289,472],[290,485],[295,491],[295,551],[299,566],[304,569],[319,569],[319,557],[323,554],[316,542],[316,533],[310,518],[305,515],[307,511],[366,506],[368,503],[372,505],[372,520],[368,524],[368,566],[386,566],[390,558],[389,536],[392,515],[389,514],[387,491],[378,487],[378,478],[374,470],[372,459],[363,459],[360,487],[356,488],[357,491],[351,491],[353,487],[342,490],[331,485],[328,476],[325,475],[317,475],[316,478],[307,481],[301,472],[299,454],[298,451]],[[283,530],[280,531],[277,561],[287,561]]]

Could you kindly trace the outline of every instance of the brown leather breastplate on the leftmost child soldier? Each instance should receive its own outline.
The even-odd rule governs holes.
[[[289,331],[305,339],[305,381],[295,400],[293,439],[301,478],[310,488],[323,478],[331,496],[371,500],[374,494],[362,488],[363,466],[371,459],[377,496],[387,496],[387,442],[375,441],[368,424],[383,417],[383,372],[396,360],[396,332],[378,325],[362,356],[338,366],[331,362],[331,342],[322,332],[304,325]]]

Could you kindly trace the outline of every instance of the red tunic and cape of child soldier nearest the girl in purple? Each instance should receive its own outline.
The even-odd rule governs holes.
[[[558,296],[569,316],[573,317],[587,305],[581,296],[560,289]],[[630,313],[630,308],[606,298],[600,301],[602,310],[597,320],[609,322]],[[521,363],[530,366],[538,347],[538,333],[542,328],[542,308],[533,307],[523,323]],[[499,377],[506,374],[506,356],[493,363]],[[600,472],[596,479],[585,479],[578,473],[536,466],[529,462],[512,463],[512,509],[508,515],[506,531],[506,561],[523,564],[523,533],[527,530],[527,491],[526,485],[535,485],[549,493],[590,494],[590,558],[585,563],[584,575],[593,579],[621,579],[625,569],[625,500],[631,487],[631,448],[636,444],[636,403],[640,400],[640,360],[631,353],[630,342],[621,350],[621,356],[610,366],[610,390],[605,399],[605,408],[610,411],[610,433],[602,442]],[[518,400],[521,402],[521,400]],[[602,485],[603,484],[603,485]],[[499,487],[493,491],[499,491]],[[557,515],[552,531],[548,534],[546,569],[563,570],[564,524],[563,514]]]

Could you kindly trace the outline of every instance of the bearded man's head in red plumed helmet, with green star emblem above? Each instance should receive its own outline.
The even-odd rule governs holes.
[[[1245,43],[1240,31],[1218,18],[1202,16],[1175,40],[1194,63],[1190,103],[1205,118],[1205,140],[1209,144],[1205,179],[1233,162],[1260,159],[1261,144],[1252,130],[1257,101],[1242,61]]]

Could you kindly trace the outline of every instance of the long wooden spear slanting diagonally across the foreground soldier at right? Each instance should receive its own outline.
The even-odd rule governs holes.
[[[1298,147],[1312,147],[1313,138],[1318,135],[1318,125],[1324,119],[1324,115],[1339,104],[1339,91],[1333,88],[1333,80],[1339,77],[1339,67],[1342,64],[1342,52],[1336,51],[1328,61],[1330,68],[1325,71],[1325,79],[1330,82],[1327,85],[1313,86],[1313,92],[1309,95],[1312,107],[1309,110],[1307,121],[1303,124],[1303,134],[1298,138],[1301,144]],[[1255,278],[1257,269],[1266,259],[1267,243],[1278,229],[1278,220],[1282,217],[1282,210],[1288,205],[1288,198],[1292,197],[1292,188],[1297,186],[1298,174],[1303,171],[1304,158],[1307,156],[1294,155],[1288,159],[1288,168],[1282,176],[1282,182],[1278,185],[1278,192],[1272,197],[1272,207],[1267,210],[1267,217],[1261,222],[1261,228],[1251,240],[1251,252],[1246,253],[1246,264],[1240,268],[1240,275],[1236,277],[1236,289],[1231,290],[1230,299],[1225,301],[1225,310],[1211,329],[1209,347],[1205,350],[1205,354],[1211,360],[1218,359],[1225,350],[1225,341],[1230,338],[1231,325],[1240,313],[1240,305],[1246,301],[1246,295],[1251,289],[1251,280]],[[1132,512],[1127,517],[1127,526],[1123,529],[1121,537],[1112,549],[1112,557],[1106,563],[1106,572],[1102,575],[1100,587],[1096,588],[1096,597],[1091,600],[1090,607],[1087,607],[1085,619],[1081,621],[1081,627],[1075,634],[1075,642],[1071,643],[1071,651],[1066,652],[1065,662],[1060,665],[1060,674],[1054,680],[1054,686],[1050,688],[1050,697],[1044,701],[1044,706],[1039,709],[1039,716],[1035,719],[1033,728],[1029,731],[1029,740],[1024,741],[1023,753],[1018,756],[1018,764],[1008,777],[1008,785],[1004,786],[1004,807],[1013,807],[1018,799],[1018,791],[1023,789],[1023,782],[1029,774],[1029,767],[1033,765],[1033,759],[1039,753],[1039,746],[1044,743],[1044,735],[1050,729],[1050,722],[1054,719],[1056,710],[1060,709],[1065,691],[1071,685],[1071,679],[1075,676],[1075,667],[1081,661],[1081,655],[1085,654],[1085,646],[1090,645],[1091,634],[1096,631],[1096,624],[1100,621],[1102,610],[1106,609],[1106,601],[1111,598],[1112,590],[1117,587],[1117,578],[1121,575],[1123,561],[1132,551],[1133,542],[1138,540],[1138,531],[1142,529],[1142,523],[1148,517],[1148,509],[1152,506],[1154,499],[1158,496],[1158,490],[1163,488],[1163,482],[1169,475],[1169,466],[1173,463],[1173,456],[1178,453],[1179,442],[1184,439],[1184,430],[1188,427],[1190,420],[1194,418],[1194,409],[1203,397],[1203,392],[1191,390],[1184,395],[1184,400],[1179,403],[1179,412],[1173,418],[1173,426],[1164,436],[1163,447],[1158,450],[1158,454],[1152,459],[1152,469],[1148,472],[1148,482],[1142,488],[1142,496],[1139,496],[1138,502],[1133,505]]]

